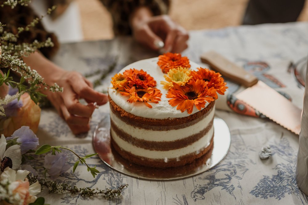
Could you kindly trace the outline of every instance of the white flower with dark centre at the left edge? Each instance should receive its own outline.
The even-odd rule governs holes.
[[[19,145],[13,145],[6,149],[6,139],[2,134],[0,137],[0,174],[5,168],[17,169],[21,164],[21,151]],[[5,150],[6,149],[6,150]]]

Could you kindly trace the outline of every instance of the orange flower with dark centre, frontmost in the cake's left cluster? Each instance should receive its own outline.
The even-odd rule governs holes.
[[[149,103],[158,103],[162,95],[160,93],[160,90],[152,87],[136,88],[133,86],[131,88],[125,87],[124,89],[125,92],[120,92],[120,93],[121,95],[129,96],[127,102],[130,103],[136,103],[137,101],[144,102],[145,105],[148,106],[149,108],[152,108],[152,106]]]

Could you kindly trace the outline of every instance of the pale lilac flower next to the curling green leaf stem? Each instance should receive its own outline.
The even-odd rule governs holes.
[[[48,169],[47,173],[52,180],[71,168],[69,164],[66,164],[67,161],[67,154],[63,152],[57,153],[56,155],[51,155],[51,153],[49,153],[45,156],[44,167]]]

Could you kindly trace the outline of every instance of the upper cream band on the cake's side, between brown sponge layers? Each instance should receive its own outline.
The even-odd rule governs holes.
[[[135,138],[147,141],[163,142],[163,141],[175,141],[199,133],[201,130],[205,129],[206,126],[208,126],[208,124],[214,117],[214,113],[215,113],[215,106],[210,111],[208,116],[206,116],[204,119],[197,122],[196,124],[193,124],[192,126],[188,126],[182,129],[168,130],[168,131],[145,130],[138,127],[135,128],[123,122],[112,112],[110,112],[110,118],[117,127],[119,127],[121,130],[124,130],[124,132],[130,134]]]

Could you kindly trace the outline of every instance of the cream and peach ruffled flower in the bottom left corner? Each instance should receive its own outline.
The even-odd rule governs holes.
[[[13,198],[18,199],[21,204],[33,203],[37,198],[35,195],[41,192],[41,184],[39,182],[29,186],[29,181],[26,178],[29,173],[27,170],[18,170],[16,172],[7,167],[0,176],[0,183],[8,183],[8,193],[12,193]]]

